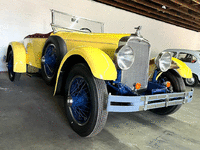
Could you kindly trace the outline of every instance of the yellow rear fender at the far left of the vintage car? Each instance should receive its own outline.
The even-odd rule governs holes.
[[[26,49],[22,43],[19,42],[11,42],[8,46],[8,53],[13,51],[13,71],[24,73],[26,72]],[[7,60],[7,59],[6,59]]]

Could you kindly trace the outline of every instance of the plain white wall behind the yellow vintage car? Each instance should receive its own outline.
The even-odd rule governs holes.
[[[134,27],[142,25],[141,33],[151,43],[152,57],[167,48],[200,49],[200,33],[92,0],[2,0],[0,8],[0,71],[7,70],[3,56],[9,42],[51,31],[49,9],[104,22],[105,32],[133,33]]]

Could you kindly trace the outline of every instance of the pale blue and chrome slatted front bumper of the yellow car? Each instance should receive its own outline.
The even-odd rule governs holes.
[[[145,96],[109,95],[108,112],[136,112],[149,109],[181,105],[192,101],[194,90],[180,93],[164,93]]]

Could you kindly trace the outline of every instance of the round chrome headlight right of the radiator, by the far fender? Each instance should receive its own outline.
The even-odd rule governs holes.
[[[158,54],[155,59],[155,63],[158,69],[162,72],[167,71],[171,66],[171,54],[169,52],[162,52]]]

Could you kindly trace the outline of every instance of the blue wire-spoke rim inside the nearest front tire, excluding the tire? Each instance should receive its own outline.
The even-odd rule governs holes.
[[[80,126],[86,124],[91,115],[90,92],[86,81],[82,77],[74,77],[68,91],[70,113],[74,121]]]

